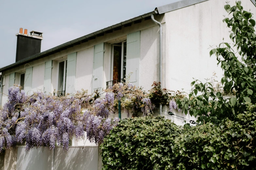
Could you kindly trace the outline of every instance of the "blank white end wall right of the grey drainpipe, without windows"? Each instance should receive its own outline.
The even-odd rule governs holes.
[[[213,72],[221,79],[223,72],[217,67],[215,56],[209,52],[221,42],[229,42],[230,28],[223,23],[226,1],[209,0],[189,7],[165,13],[166,21],[166,88],[185,92],[191,89],[193,78],[204,81],[211,78]],[[235,0],[230,1],[235,5]],[[250,0],[242,1],[244,10],[256,8]],[[232,16],[229,16],[230,18]]]

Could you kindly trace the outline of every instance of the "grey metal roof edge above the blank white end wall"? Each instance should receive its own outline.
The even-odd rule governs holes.
[[[167,5],[163,5],[160,7],[157,7],[158,13],[159,14],[163,14],[165,12],[170,12],[170,11],[174,11],[176,9],[180,9],[183,7],[188,7],[200,2],[204,2],[204,1],[208,1],[208,0],[182,0],[182,1],[178,1],[178,2],[174,2],[171,4],[167,4]]]

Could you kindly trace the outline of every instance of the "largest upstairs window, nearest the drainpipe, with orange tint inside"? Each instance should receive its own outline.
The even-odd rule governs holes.
[[[126,76],[126,41],[112,45],[111,80],[123,79]]]

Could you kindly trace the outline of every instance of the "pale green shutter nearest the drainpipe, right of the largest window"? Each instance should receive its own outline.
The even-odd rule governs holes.
[[[140,43],[140,31],[127,35],[126,77],[132,73],[129,82],[137,87],[139,86]]]

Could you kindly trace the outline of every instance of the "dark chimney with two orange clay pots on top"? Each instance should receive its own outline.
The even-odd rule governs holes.
[[[42,35],[43,33],[36,31],[31,31],[30,35],[28,35],[27,29],[24,30],[23,34],[23,29],[20,28],[20,32],[16,34],[16,62],[41,52]]]

